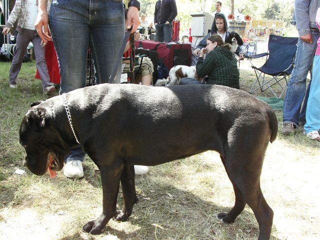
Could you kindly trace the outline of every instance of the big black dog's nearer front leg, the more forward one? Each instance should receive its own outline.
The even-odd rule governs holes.
[[[99,167],[102,182],[102,207],[103,211],[95,220],[89,221],[83,226],[83,230],[92,234],[99,234],[106,223],[117,215],[116,198],[119,190],[119,180],[122,166],[111,168]]]

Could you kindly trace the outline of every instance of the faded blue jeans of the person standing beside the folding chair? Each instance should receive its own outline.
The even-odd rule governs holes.
[[[283,102],[283,123],[292,122],[296,127],[299,124],[300,116],[304,116],[305,112],[301,112],[301,103],[305,95],[306,75],[312,65],[314,52],[316,50],[316,41],[319,38],[319,31],[311,30],[312,43],[306,43],[300,38],[298,39],[295,54],[294,68],[292,70],[288,87]],[[307,102],[307,95],[305,97]],[[305,107],[302,107],[302,111]]]

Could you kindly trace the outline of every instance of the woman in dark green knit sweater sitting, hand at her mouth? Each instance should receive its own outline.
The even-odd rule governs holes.
[[[239,89],[239,70],[231,45],[224,44],[215,34],[206,39],[206,46],[200,51],[195,69],[199,77],[207,76],[207,84],[230,86]],[[204,54],[206,54],[205,58]],[[203,84],[194,78],[181,78],[180,84]]]

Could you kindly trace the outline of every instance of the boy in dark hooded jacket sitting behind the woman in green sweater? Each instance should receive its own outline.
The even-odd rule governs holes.
[[[211,31],[195,47],[193,54],[196,56],[200,54],[200,50],[203,47],[205,47],[206,39],[208,39],[208,37],[211,35],[218,34],[219,36],[221,36],[223,41],[225,41],[228,35],[230,34],[230,32],[227,29],[228,29],[228,25],[227,25],[227,21],[225,19],[224,14],[222,13],[216,14],[211,26]],[[244,59],[244,52],[241,50],[240,46],[238,46],[235,53],[239,56],[239,60]]]

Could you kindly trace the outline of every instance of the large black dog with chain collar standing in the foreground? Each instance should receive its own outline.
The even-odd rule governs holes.
[[[98,166],[103,211],[83,226],[100,233],[111,217],[127,220],[137,201],[133,165],[156,165],[206,150],[220,153],[231,180],[235,203],[222,222],[232,222],[247,203],[259,224],[259,238],[269,239],[273,211],[260,189],[265,149],[277,133],[273,110],[250,94],[218,85],[149,87],[99,84],[67,93],[74,134]],[[31,107],[20,126],[24,164],[44,174],[61,170],[64,156],[77,142],[62,96]],[[153,144],[156,142],[156,144]],[[124,206],[116,210],[121,182]]]

